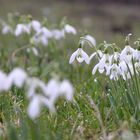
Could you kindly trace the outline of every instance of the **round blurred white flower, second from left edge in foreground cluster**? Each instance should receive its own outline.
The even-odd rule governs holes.
[[[21,88],[27,78],[27,74],[21,68],[15,68],[9,75],[8,80],[15,86]]]

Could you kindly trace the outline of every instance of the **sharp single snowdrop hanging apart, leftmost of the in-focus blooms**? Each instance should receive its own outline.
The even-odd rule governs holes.
[[[89,56],[87,55],[87,53],[85,51],[82,50],[82,48],[78,48],[70,57],[69,63],[73,63],[73,61],[75,60],[75,58],[77,59],[77,61],[79,63],[82,63],[83,61],[85,61],[87,64],[89,64],[90,60],[89,60]]]

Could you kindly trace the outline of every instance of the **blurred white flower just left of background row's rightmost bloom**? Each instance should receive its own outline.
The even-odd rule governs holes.
[[[57,29],[54,29],[51,31],[52,32],[52,37],[56,40],[60,40],[61,38],[64,38],[65,37],[65,32],[64,30],[57,30]]]

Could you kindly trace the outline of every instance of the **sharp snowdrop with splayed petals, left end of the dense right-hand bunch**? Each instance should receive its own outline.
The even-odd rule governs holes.
[[[100,73],[103,73],[105,70],[108,71],[110,65],[112,63],[112,56],[109,54],[104,54],[100,59],[99,63],[96,64],[92,70],[92,74],[94,75],[98,70]]]

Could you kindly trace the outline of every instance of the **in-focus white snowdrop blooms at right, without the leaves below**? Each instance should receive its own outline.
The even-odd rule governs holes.
[[[101,48],[97,49],[90,39],[84,37],[82,42],[90,42],[95,47],[96,52],[88,56],[82,49],[83,46],[80,45],[78,50],[71,55],[69,63],[71,64],[76,58],[79,63],[85,61],[89,64],[93,58],[97,58],[98,63],[93,67],[93,75],[96,71],[99,71],[99,73],[105,73],[113,80],[118,80],[119,77],[124,80],[130,79],[134,74],[138,74],[140,70],[140,50],[129,45],[130,35],[126,37],[126,45],[122,51],[118,51],[119,48],[116,44],[107,44],[106,42],[102,44],[103,50]],[[139,42],[136,42],[138,46]]]

